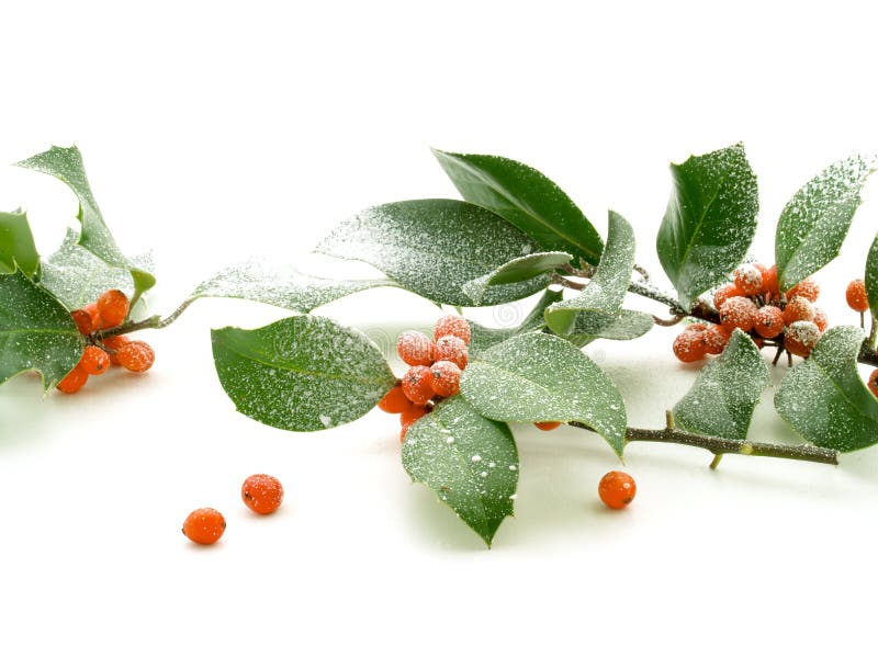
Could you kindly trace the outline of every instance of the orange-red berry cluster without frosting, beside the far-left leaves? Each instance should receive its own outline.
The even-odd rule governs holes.
[[[121,365],[134,373],[146,372],[153,366],[156,354],[144,341],[100,334],[100,331],[122,325],[128,317],[130,307],[125,293],[112,290],[102,293],[97,302],[70,311],[79,332],[87,336],[91,344],[82,351],[74,370],[58,382],[58,389],[76,393],[86,385],[89,375],[102,375],[110,365]]]

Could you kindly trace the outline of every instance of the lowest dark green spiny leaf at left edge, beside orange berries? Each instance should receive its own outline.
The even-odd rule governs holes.
[[[22,272],[0,276],[0,384],[25,371],[53,388],[82,355],[85,342],[70,314]]]

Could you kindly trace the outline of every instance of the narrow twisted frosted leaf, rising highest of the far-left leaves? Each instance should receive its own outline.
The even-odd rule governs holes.
[[[54,175],[66,183],[79,200],[79,222],[82,224],[79,243],[102,261],[115,268],[125,268],[134,280],[136,296],[156,284],[156,277],[130,261],[120,251],[110,229],[104,224],[94,195],[91,193],[82,155],[76,146],[60,148],[53,146],[18,163],[19,167]]]

